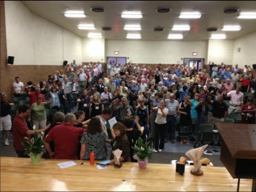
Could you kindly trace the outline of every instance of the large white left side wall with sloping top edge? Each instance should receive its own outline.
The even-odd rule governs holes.
[[[7,54],[15,65],[82,62],[81,37],[31,13],[21,1],[5,1]]]

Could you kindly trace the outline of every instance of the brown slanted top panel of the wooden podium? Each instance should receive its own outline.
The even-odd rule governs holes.
[[[236,159],[256,159],[256,124],[216,123],[228,151]]]

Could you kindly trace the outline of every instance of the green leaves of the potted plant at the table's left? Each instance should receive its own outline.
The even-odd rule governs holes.
[[[44,132],[42,132],[41,135],[38,135],[38,133],[36,133],[36,130],[35,130],[34,136],[35,137],[31,139],[29,139],[28,137],[24,137],[27,141],[20,142],[22,146],[26,147],[24,155],[37,156],[38,154],[45,152]]]

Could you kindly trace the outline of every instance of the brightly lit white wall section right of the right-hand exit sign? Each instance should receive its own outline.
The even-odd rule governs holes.
[[[215,64],[233,64],[234,40],[209,40],[206,64],[214,61]]]

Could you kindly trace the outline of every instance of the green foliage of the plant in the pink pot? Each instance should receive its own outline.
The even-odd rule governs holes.
[[[141,137],[138,138],[138,141],[132,148],[134,149],[134,154],[137,156],[138,159],[144,160],[145,158],[152,158],[153,149],[150,148],[150,143],[145,142],[144,144]]]

